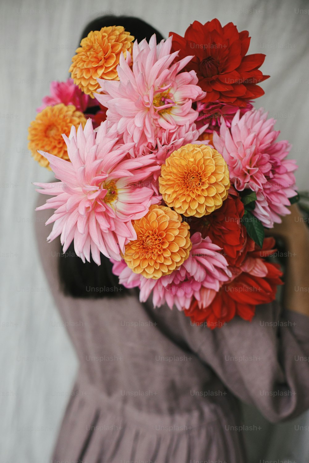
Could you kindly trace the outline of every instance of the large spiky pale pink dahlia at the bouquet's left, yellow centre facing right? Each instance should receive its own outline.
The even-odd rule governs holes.
[[[46,222],[54,222],[48,239],[61,235],[65,252],[74,239],[76,254],[89,261],[90,250],[100,265],[100,252],[120,260],[125,244],[136,239],[132,220],[142,218],[149,209],[153,190],[132,187],[149,176],[152,156],[139,159],[128,157],[132,144],[118,144],[117,133],[107,131],[103,122],[94,132],[91,119],[77,134],[73,126],[69,138],[63,135],[68,147],[69,161],[44,151],[40,154],[50,163],[57,183],[35,183],[39,193],[54,196],[39,209],[55,209]]]

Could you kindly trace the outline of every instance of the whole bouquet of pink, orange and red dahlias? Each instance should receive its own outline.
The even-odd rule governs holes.
[[[122,26],[82,39],[72,79],[53,82],[29,127],[34,158],[60,180],[35,183],[55,209],[48,240],[100,253],[143,302],[197,324],[251,320],[282,284],[267,257],[296,198],[287,141],[252,102],[269,76],[247,31],[217,19],[180,37],[134,41]]]

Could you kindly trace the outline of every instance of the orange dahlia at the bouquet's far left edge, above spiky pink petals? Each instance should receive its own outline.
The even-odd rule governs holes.
[[[59,103],[55,106],[46,106],[41,113],[31,122],[28,129],[28,149],[38,163],[50,170],[47,159],[38,153],[38,150],[46,151],[69,161],[67,146],[62,134],[69,136],[71,126],[76,129],[86,124],[83,113],[77,111],[73,105],[65,106]]]

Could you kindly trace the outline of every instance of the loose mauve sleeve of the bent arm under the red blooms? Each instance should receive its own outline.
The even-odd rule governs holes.
[[[194,332],[193,330],[196,330]],[[205,332],[207,330],[207,332]],[[251,322],[190,327],[195,352],[225,386],[275,423],[309,408],[309,317],[277,302],[258,306]]]

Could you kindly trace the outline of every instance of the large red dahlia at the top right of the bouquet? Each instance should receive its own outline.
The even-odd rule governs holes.
[[[259,70],[265,55],[245,56],[250,44],[248,31],[239,32],[233,23],[222,27],[213,19],[204,25],[194,21],[184,37],[174,32],[170,35],[172,51],[180,50],[177,59],[194,55],[184,70],[196,72],[200,87],[207,92],[202,101],[245,107],[247,101],[264,94],[257,84],[269,77]]]

